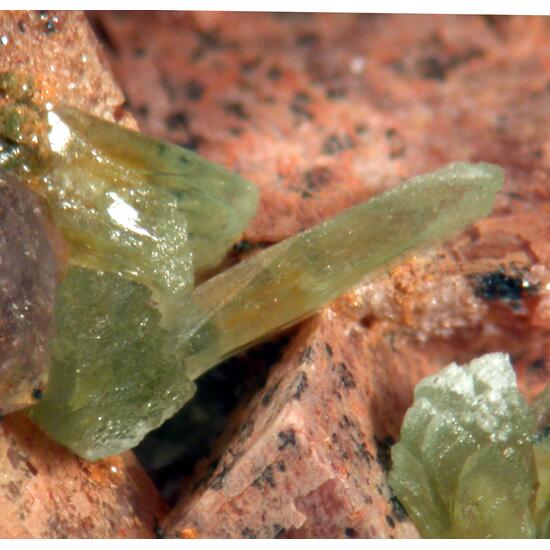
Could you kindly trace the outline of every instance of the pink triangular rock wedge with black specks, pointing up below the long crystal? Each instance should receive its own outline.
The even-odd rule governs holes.
[[[341,331],[348,337],[335,340]],[[332,310],[302,328],[225,452],[186,487],[166,536],[415,536],[385,479],[411,380],[426,365],[366,333]]]

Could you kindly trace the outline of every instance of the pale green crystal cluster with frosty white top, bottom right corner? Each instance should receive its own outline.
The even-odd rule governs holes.
[[[550,440],[536,434],[508,356],[452,364],[416,386],[390,486],[424,537],[549,537]]]

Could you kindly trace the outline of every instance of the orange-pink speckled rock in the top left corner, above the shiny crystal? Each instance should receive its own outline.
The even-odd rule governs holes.
[[[0,12],[0,71],[8,70],[34,79],[38,103],[66,102],[135,127],[80,12]]]

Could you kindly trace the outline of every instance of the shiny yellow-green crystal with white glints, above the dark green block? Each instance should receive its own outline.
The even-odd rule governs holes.
[[[162,309],[221,262],[256,212],[254,186],[190,151],[36,105],[14,73],[0,74],[0,92],[0,166],[46,200],[73,263],[147,285]]]

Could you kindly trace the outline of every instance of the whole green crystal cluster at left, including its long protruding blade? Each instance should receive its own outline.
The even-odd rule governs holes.
[[[257,189],[76,109],[35,108],[20,81],[0,78],[0,166],[42,197],[73,266],[57,290],[49,383],[29,414],[90,460],[135,446],[225,357],[487,215],[503,182],[496,166],[449,165],[195,288],[248,225]],[[7,131],[14,103],[36,115],[20,134]]]

